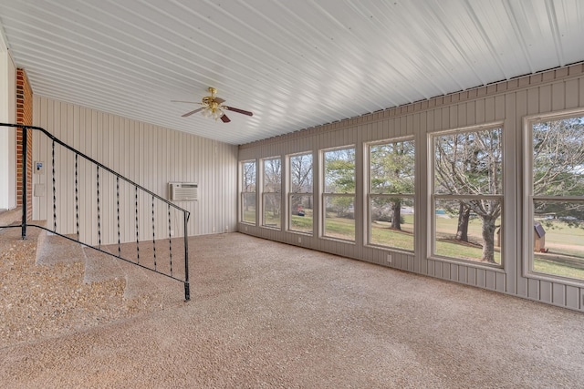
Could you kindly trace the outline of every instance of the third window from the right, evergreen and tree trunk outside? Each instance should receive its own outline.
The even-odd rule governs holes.
[[[369,243],[413,251],[412,139],[369,146]]]

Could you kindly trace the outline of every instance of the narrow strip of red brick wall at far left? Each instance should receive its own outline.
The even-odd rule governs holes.
[[[28,77],[24,69],[16,69],[16,123],[26,126],[33,124],[33,91],[28,84]],[[29,129],[26,134],[26,219],[31,220],[33,215],[33,135]],[[22,153],[23,131],[16,129],[16,205],[22,206]]]

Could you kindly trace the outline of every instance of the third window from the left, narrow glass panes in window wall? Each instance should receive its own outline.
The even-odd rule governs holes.
[[[312,233],[312,154],[290,156],[288,230]]]

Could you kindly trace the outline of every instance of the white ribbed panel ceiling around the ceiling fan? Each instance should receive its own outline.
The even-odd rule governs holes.
[[[0,0],[33,91],[243,144],[584,60],[581,0]],[[181,115],[216,87],[231,123]]]

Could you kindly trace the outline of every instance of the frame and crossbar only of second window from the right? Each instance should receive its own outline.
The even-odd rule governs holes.
[[[436,194],[435,193],[435,138],[444,135],[460,134],[460,133],[471,133],[471,132],[481,132],[493,129],[500,129],[501,131],[501,190],[500,194]],[[477,268],[486,268],[494,271],[504,271],[505,269],[505,240],[503,233],[500,232],[500,263],[491,263],[487,261],[474,261],[467,260],[464,258],[449,257],[445,255],[440,255],[436,253],[436,202],[437,200],[499,200],[501,204],[501,211],[499,218],[501,220],[501,227],[505,220],[505,202],[506,202],[506,142],[505,135],[506,130],[503,121],[497,121],[488,123],[485,125],[469,126],[463,128],[451,128],[442,131],[436,131],[427,134],[428,140],[428,210],[430,211],[429,225],[428,225],[428,259],[433,261],[446,261],[456,264],[463,264],[464,266],[472,266]],[[501,230],[501,227],[499,230]],[[495,231],[495,241],[496,241],[496,231]]]

